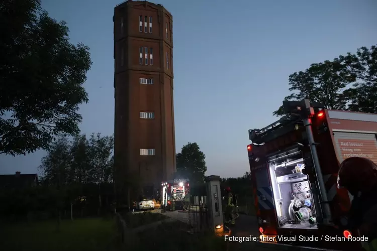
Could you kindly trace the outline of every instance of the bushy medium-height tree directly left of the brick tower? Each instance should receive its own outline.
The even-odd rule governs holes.
[[[76,135],[72,141],[61,136],[50,144],[40,169],[50,188],[57,190],[59,202],[69,201],[71,215],[73,204],[84,192],[97,196],[100,213],[103,186],[113,182],[113,149],[114,136],[101,134],[92,134],[89,140]]]

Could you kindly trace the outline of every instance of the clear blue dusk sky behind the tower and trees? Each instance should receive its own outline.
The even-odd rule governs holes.
[[[65,20],[71,43],[90,47],[93,65],[81,105],[81,133],[114,133],[113,15],[121,1],[45,0]],[[276,120],[288,76],[311,63],[377,43],[377,2],[160,0],[173,15],[176,151],[197,142],[207,175],[249,171],[248,129]],[[0,174],[36,173],[44,151],[0,155]]]

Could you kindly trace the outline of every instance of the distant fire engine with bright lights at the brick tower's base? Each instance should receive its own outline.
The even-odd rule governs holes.
[[[161,203],[166,210],[170,209],[172,201],[175,202],[175,209],[183,209],[184,196],[190,190],[189,179],[174,179],[167,182],[162,182]]]

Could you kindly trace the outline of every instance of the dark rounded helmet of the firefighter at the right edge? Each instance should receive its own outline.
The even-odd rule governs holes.
[[[346,188],[352,195],[365,192],[377,184],[377,165],[369,159],[351,157],[339,167],[338,188]]]

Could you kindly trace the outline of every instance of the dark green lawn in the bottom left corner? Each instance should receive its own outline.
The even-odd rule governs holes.
[[[86,218],[5,224],[0,226],[0,250],[96,251],[115,250],[116,229],[112,219]]]

